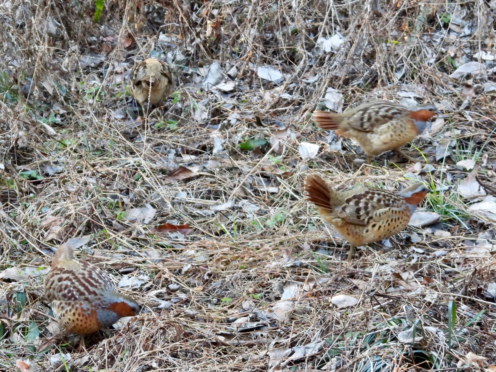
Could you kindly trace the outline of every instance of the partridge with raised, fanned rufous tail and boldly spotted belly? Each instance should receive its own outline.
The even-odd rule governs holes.
[[[401,191],[369,187],[336,191],[319,176],[310,175],[305,180],[305,192],[322,219],[350,243],[348,259],[351,259],[355,247],[402,231],[431,190],[419,183]]]

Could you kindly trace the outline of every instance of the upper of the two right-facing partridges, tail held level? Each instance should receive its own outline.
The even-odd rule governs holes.
[[[322,129],[334,129],[336,134],[356,140],[371,156],[394,150],[409,161],[417,161],[401,151],[401,146],[422,133],[437,109],[426,103],[410,110],[389,101],[372,101],[342,114],[315,111],[313,121]]]

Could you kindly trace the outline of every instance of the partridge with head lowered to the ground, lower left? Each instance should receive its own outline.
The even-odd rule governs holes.
[[[105,271],[75,260],[65,244],[55,251],[44,287],[55,318],[71,333],[90,334],[140,311],[136,301],[115,291]]]

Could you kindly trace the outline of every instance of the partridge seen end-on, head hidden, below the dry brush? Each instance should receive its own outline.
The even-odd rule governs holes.
[[[141,105],[144,115],[145,106],[161,104],[173,91],[172,71],[164,61],[148,58],[134,65],[129,72],[129,92]]]

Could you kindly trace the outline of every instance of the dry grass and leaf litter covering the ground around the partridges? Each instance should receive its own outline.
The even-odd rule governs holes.
[[[476,371],[496,362],[486,293],[495,224],[468,209],[480,200],[458,194],[468,172],[452,165],[474,159],[488,193],[495,187],[495,105],[484,93],[494,75],[448,77],[479,51],[495,54],[494,1],[380,1],[381,17],[374,1],[258,5],[105,1],[98,23],[83,1],[0,5],[0,272],[19,271],[0,276],[1,371],[19,370],[18,359],[38,371],[122,372]],[[472,22],[470,34],[442,34],[449,17]],[[336,32],[345,43],[319,53],[318,37]],[[126,74],[150,51],[172,63],[178,93],[134,122]],[[224,73],[237,68],[237,91],[201,86],[202,67],[215,61]],[[283,81],[259,78],[264,65]],[[413,142],[434,167],[384,167],[387,154],[357,166],[353,141],[339,151],[310,122],[327,87],[344,107],[407,91],[434,102],[444,122]],[[207,119],[198,120],[201,108]],[[284,127],[284,148],[239,147]],[[321,146],[316,158],[302,159],[302,141]],[[443,148],[451,155],[436,161]],[[198,172],[167,181],[182,165]],[[302,199],[314,170],[342,187],[420,178],[438,190],[424,207],[441,222],[347,263],[346,244]],[[157,209],[148,225],[122,218],[147,203]],[[167,221],[194,231],[150,232]],[[53,248],[83,236],[91,240],[82,256],[116,283],[132,278],[123,290],[144,304],[121,330],[88,337],[88,353],[73,336],[54,336],[42,286]],[[338,309],[330,299],[342,294],[358,302]],[[400,332],[412,327],[417,338],[405,341]]]

